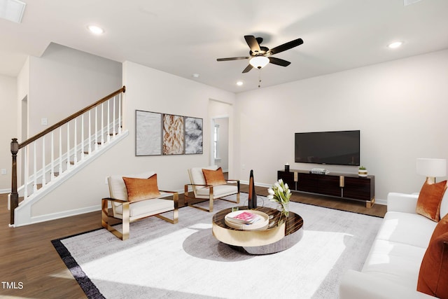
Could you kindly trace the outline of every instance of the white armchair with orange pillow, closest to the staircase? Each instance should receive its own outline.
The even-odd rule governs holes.
[[[116,237],[122,240],[128,239],[130,223],[148,216],[156,216],[169,223],[178,222],[179,194],[158,190],[155,172],[109,176],[108,182],[111,197],[102,199],[102,226]],[[112,215],[109,215],[109,202],[112,206]],[[173,217],[160,215],[166,211],[173,211]],[[122,220],[122,232],[110,225],[111,217]]]

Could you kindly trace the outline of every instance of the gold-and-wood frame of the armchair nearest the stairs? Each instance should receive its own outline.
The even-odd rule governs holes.
[[[125,241],[126,239],[129,239],[130,223],[133,221],[137,221],[142,218],[155,216],[155,217],[163,219],[172,224],[178,223],[179,222],[179,193],[173,192],[173,191],[164,191],[164,190],[160,190],[160,192],[172,193],[172,200],[174,200],[174,210],[172,210],[173,218],[168,218],[168,217],[162,216],[160,214],[151,214],[151,215],[147,215],[147,216],[143,216],[140,218],[135,218],[133,220],[130,220],[130,205],[134,204],[135,202],[128,202],[127,200],[117,200],[116,198],[111,198],[111,197],[104,197],[102,199],[102,221],[101,221],[102,227],[109,230],[109,232],[112,232],[113,235],[118,237],[118,239]],[[151,200],[151,199],[149,199],[149,200]],[[116,202],[116,203],[122,204],[122,206],[123,206],[123,214],[122,214],[123,218],[122,219],[114,217],[109,214],[109,202]],[[163,213],[167,213],[167,212],[163,212]],[[122,232],[116,230],[116,228],[113,228],[113,226],[109,222],[111,218],[120,219],[122,221],[121,222]]]

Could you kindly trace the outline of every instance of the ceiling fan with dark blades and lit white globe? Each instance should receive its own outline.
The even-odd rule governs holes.
[[[303,43],[302,39],[295,39],[293,41],[288,41],[288,43],[283,43],[283,45],[269,49],[265,46],[260,46],[260,43],[262,43],[263,41],[261,37],[255,38],[255,36],[253,35],[245,35],[244,39],[246,40],[246,43],[248,44],[249,48],[251,48],[251,50],[249,51],[250,56],[218,58],[217,60],[229,61],[229,60],[250,59],[249,64],[246,67],[246,69],[243,70],[243,73],[247,73],[248,71],[253,69],[253,67],[261,69],[262,67],[265,67],[269,62],[272,64],[279,65],[281,67],[288,67],[290,62],[282,60],[280,58],[271,57],[271,55],[281,53],[283,51],[289,50],[290,48],[300,46]]]

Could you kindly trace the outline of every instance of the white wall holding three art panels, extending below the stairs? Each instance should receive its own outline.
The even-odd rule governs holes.
[[[123,84],[126,85],[123,129],[129,130],[129,136],[34,204],[32,216],[57,215],[67,210],[76,214],[76,211],[85,211],[89,207],[99,209],[101,198],[109,196],[104,183],[109,175],[153,170],[158,174],[161,190],[183,190],[184,184],[189,183],[189,167],[209,165],[209,99],[233,104],[235,94],[133,62],[123,64]],[[136,157],[135,110],[203,118],[204,154]]]

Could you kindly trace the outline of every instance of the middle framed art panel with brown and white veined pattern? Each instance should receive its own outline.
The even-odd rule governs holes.
[[[183,116],[163,115],[163,155],[182,155],[185,153],[184,130]]]

